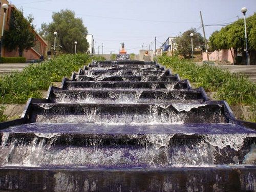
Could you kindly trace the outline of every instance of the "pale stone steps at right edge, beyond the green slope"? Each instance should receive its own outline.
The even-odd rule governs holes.
[[[198,65],[202,65],[202,62],[197,62]],[[256,66],[239,66],[239,65],[213,65],[221,69],[226,69],[231,73],[242,73],[249,77],[249,80],[256,82]]]

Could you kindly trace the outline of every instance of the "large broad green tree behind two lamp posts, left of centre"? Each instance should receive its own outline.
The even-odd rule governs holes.
[[[74,53],[74,42],[77,41],[77,52],[87,52],[89,44],[86,40],[88,34],[81,18],[75,18],[75,13],[70,10],[61,10],[53,13],[53,22],[41,24],[39,33],[54,45],[54,32],[58,33],[56,44],[66,53]]]

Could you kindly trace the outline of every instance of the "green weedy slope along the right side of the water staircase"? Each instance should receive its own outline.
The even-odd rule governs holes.
[[[230,105],[253,106],[256,103],[256,84],[243,74],[231,74],[207,64],[198,66],[193,61],[178,57],[162,56],[158,61],[197,87],[203,87],[207,92],[217,92],[216,99],[226,100]]]

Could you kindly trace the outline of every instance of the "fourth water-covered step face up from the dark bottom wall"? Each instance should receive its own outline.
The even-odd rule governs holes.
[[[66,90],[83,90],[83,89],[190,89],[188,81],[65,81],[64,89]]]

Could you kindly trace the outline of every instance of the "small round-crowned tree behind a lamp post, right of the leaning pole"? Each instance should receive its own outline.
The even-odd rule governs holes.
[[[198,32],[196,32],[196,29],[189,29],[185,31],[183,34],[181,34],[176,42],[177,42],[177,50],[179,54],[183,55],[183,57],[186,57],[187,54],[189,57],[191,56],[191,37],[190,33],[193,33],[193,47],[196,48],[200,45],[203,45],[204,39],[202,35]]]

